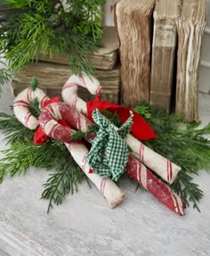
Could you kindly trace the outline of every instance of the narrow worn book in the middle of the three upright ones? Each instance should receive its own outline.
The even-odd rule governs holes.
[[[157,0],[154,12],[150,103],[170,111],[181,0]]]

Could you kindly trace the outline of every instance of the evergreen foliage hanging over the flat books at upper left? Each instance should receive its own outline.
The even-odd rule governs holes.
[[[0,55],[8,68],[0,69],[0,84],[38,54],[69,53],[72,73],[91,73],[86,54],[97,50],[101,37],[101,5],[106,0],[1,0]]]

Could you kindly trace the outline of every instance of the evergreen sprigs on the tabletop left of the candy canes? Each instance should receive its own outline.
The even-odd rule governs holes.
[[[29,168],[55,169],[44,184],[43,199],[48,199],[49,206],[61,204],[66,195],[77,192],[77,184],[85,177],[66,147],[49,141],[44,145],[16,143],[2,151],[0,161],[0,183],[6,176],[25,175]]]

